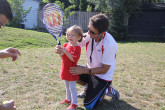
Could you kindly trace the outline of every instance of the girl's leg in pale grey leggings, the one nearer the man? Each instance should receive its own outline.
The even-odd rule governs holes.
[[[71,92],[71,101],[72,101],[72,104],[77,105],[76,81],[69,81],[69,90]]]

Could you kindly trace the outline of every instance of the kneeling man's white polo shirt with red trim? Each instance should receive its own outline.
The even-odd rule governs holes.
[[[86,35],[87,36],[84,37],[82,42],[79,42],[78,45],[81,47],[86,46],[87,67],[101,67],[102,64],[111,65],[107,73],[96,74],[96,76],[106,81],[112,81],[113,73],[116,67],[116,52],[118,49],[116,41],[109,33],[106,32],[102,36],[100,42],[95,42],[94,40],[93,52],[91,55],[92,39],[89,34],[86,33]],[[90,62],[90,56],[92,58],[92,62]]]

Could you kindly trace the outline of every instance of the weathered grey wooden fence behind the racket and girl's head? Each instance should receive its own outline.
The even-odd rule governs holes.
[[[80,12],[77,11],[75,14],[69,16],[68,18],[68,24],[65,25],[65,29],[67,29],[70,26],[78,25],[83,30],[87,30],[87,26],[89,23],[89,18],[93,15],[96,15],[100,12]],[[38,15],[38,28],[44,28],[44,25],[42,23],[42,11],[39,11]]]

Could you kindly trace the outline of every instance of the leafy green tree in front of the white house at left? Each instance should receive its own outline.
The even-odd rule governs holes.
[[[13,12],[13,20],[8,25],[11,27],[20,27],[20,24],[26,21],[25,17],[30,12],[31,7],[23,9],[24,0],[8,0]]]

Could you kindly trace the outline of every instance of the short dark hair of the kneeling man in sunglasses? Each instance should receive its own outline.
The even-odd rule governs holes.
[[[105,32],[109,27],[108,16],[105,14],[97,14],[89,19],[90,23],[99,33]]]

